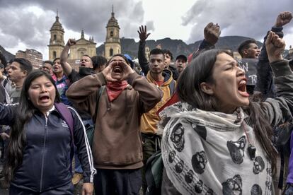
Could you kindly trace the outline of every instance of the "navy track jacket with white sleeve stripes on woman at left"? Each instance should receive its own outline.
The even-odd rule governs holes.
[[[0,104],[0,124],[15,121],[18,106]],[[74,145],[77,147],[84,182],[93,182],[96,170],[81,118],[69,107],[74,119]],[[26,145],[23,162],[16,169],[11,185],[36,192],[62,187],[71,182],[71,134],[56,109],[45,115],[36,111],[24,126]]]

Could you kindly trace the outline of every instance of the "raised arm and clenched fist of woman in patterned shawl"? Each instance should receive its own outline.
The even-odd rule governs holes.
[[[268,60],[272,68],[277,98],[268,98],[261,103],[261,108],[272,126],[286,122],[293,112],[293,73],[288,61],[282,58],[285,41],[275,32],[269,32],[265,41]]]

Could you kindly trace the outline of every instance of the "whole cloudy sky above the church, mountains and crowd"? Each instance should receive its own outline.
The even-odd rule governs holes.
[[[50,28],[58,8],[59,20],[69,37],[93,36],[105,41],[105,25],[112,5],[120,37],[138,40],[139,25],[147,25],[149,39],[165,37],[190,44],[203,38],[209,22],[219,23],[221,36],[241,35],[262,41],[281,11],[293,12],[292,0],[0,0],[0,45],[15,54],[36,49],[48,57]],[[293,45],[293,21],[284,28],[287,48]]]

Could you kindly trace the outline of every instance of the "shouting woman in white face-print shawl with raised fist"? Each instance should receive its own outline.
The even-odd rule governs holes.
[[[178,81],[181,102],[160,113],[162,194],[275,194],[272,126],[293,110],[293,73],[284,40],[265,42],[277,98],[249,99],[246,77],[224,50],[200,54]]]

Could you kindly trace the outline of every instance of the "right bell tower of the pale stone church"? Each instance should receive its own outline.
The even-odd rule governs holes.
[[[114,16],[114,6],[112,6],[111,18],[106,26],[107,34],[105,38],[105,58],[110,59],[115,54],[121,53],[119,30],[120,27]]]

